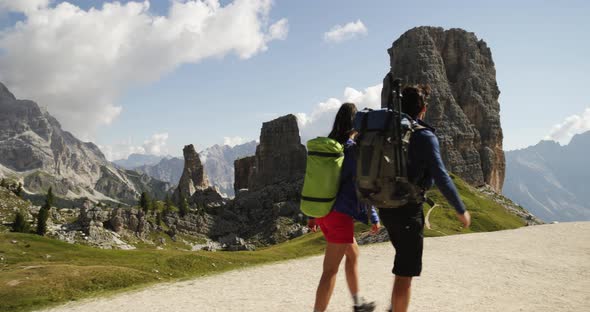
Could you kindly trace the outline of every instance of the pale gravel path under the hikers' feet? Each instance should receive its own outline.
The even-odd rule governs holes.
[[[385,311],[393,249],[361,247],[362,294]],[[161,284],[46,310],[312,311],[322,257]],[[329,311],[351,311],[341,268]],[[428,238],[410,311],[590,311],[590,222]]]

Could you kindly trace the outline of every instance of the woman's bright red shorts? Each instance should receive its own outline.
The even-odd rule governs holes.
[[[326,241],[334,244],[354,242],[354,220],[351,216],[332,210],[327,216],[316,219]]]

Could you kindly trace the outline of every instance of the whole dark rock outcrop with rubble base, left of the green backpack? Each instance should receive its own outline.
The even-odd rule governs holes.
[[[305,161],[295,116],[265,122],[256,155],[235,162],[236,191],[247,190],[236,193],[210,235],[236,234],[264,245],[305,233],[299,212]]]

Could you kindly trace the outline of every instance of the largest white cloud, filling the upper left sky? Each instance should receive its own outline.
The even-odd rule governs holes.
[[[92,136],[121,113],[118,96],[185,63],[235,54],[250,58],[285,39],[288,22],[270,22],[271,0],[172,0],[166,16],[149,1],[0,0],[26,19],[0,32],[0,81],[37,101],[77,136]]]

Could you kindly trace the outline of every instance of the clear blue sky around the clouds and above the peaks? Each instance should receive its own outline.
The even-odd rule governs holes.
[[[590,83],[590,5],[481,2],[277,0],[266,18],[269,24],[286,19],[286,38],[268,41],[266,50],[246,59],[220,53],[125,85],[109,98],[121,108],[110,124],[84,131],[72,123],[70,130],[115,149],[141,146],[154,134],[166,133],[165,148],[157,151],[173,155],[189,143],[205,148],[223,143],[224,137],[256,139],[263,121],[287,113],[309,114],[320,102],[342,98],[347,87],[362,91],[379,84],[389,69],[386,49],[391,43],[412,27],[429,25],[463,28],[487,42],[501,90],[504,147],[536,144],[555,125],[590,107],[585,92]],[[101,10],[103,1],[70,3]],[[166,16],[169,6],[169,1],[151,1],[149,11]],[[0,14],[0,27],[10,29],[18,20],[26,21],[25,16]],[[365,25],[366,35],[340,43],[324,40],[335,25],[357,20]],[[6,74],[0,78],[10,81]],[[26,94],[26,87],[21,82],[17,90]],[[94,103],[87,99],[79,105]],[[48,109],[52,112],[51,105]],[[62,123],[67,128],[68,122]]]

